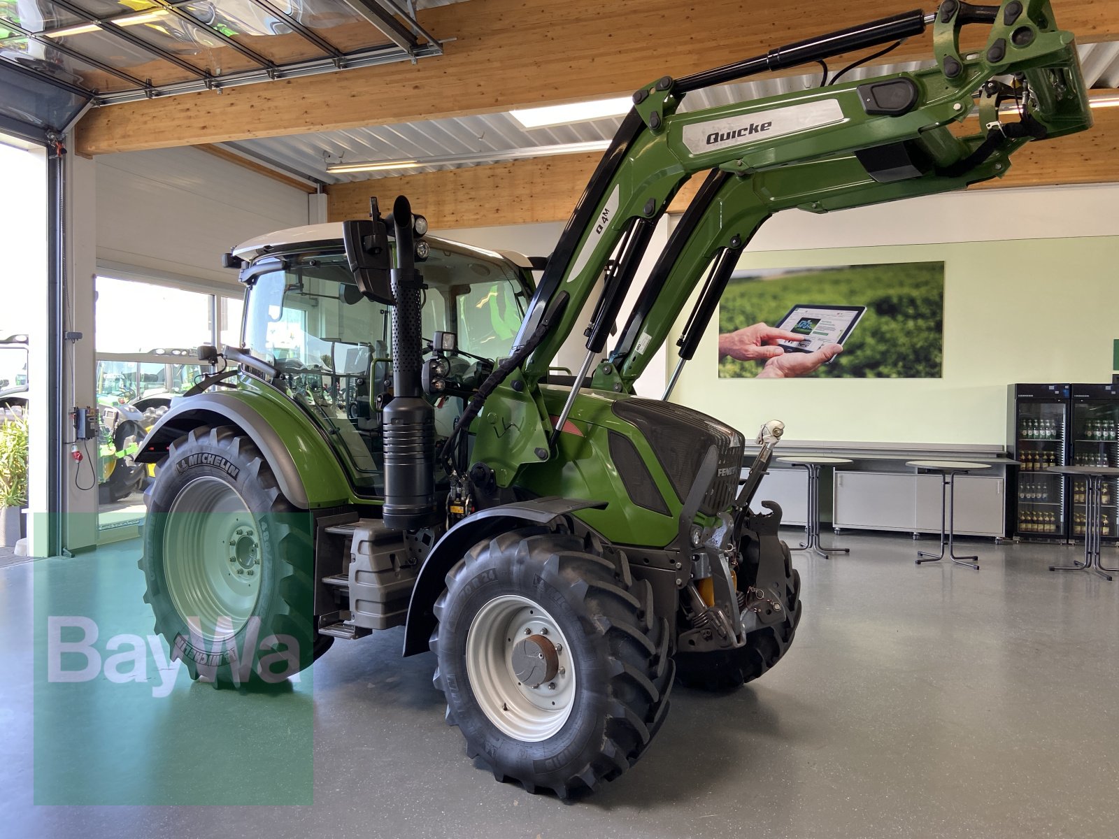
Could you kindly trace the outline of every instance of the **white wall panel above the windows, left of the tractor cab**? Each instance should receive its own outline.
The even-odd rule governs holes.
[[[308,224],[302,190],[197,149],[106,154],[97,163],[97,260],[233,284],[222,254]]]

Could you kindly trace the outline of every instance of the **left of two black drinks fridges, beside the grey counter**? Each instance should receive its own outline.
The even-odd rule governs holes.
[[[1007,532],[1021,539],[1070,538],[1068,482],[1046,471],[1069,464],[1071,385],[1010,385],[1009,449],[1018,461]]]

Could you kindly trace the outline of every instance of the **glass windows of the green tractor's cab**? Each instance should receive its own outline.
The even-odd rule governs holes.
[[[508,356],[524,317],[515,268],[482,252],[433,244],[417,265],[424,291],[423,334],[455,332],[464,353]],[[245,304],[244,343],[274,365],[288,394],[340,443],[355,486],[380,491],[380,407],[392,389],[392,308],[357,291],[344,254],[285,261],[261,274]],[[462,364],[473,359],[459,357]],[[435,403],[436,437],[445,437],[462,402]]]

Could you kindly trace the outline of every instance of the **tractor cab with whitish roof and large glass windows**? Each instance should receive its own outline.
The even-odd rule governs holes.
[[[508,356],[533,293],[517,254],[425,238],[426,360],[438,358],[440,443],[463,397]],[[384,490],[383,412],[393,398],[392,307],[361,294],[347,264],[341,224],[281,230],[233,252],[246,286],[242,346],[273,367],[273,384],[326,433],[355,490]],[[433,340],[440,337],[439,347]]]

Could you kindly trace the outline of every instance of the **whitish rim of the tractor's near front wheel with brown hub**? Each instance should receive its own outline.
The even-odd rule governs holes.
[[[514,667],[518,644],[529,638],[546,639],[558,662],[558,670],[538,686],[523,684]],[[527,597],[504,594],[483,605],[467,633],[467,678],[489,720],[528,743],[547,739],[563,728],[575,699],[570,649],[555,619]]]

